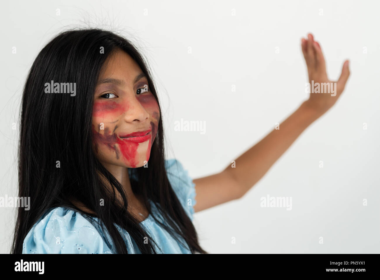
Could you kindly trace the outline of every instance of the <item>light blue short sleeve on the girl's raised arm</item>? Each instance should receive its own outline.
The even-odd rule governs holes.
[[[174,192],[190,217],[190,220],[193,220],[193,214],[195,213],[194,205],[196,204],[195,183],[193,183],[193,179],[190,178],[188,171],[184,169],[177,159],[166,160],[165,167]]]

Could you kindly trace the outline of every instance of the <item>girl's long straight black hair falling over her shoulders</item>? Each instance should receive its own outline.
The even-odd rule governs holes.
[[[158,253],[154,247],[157,243],[128,213],[128,198],[119,181],[93,153],[91,128],[95,85],[106,59],[117,49],[127,52],[140,66],[158,102],[147,62],[130,41],[113,32],[101,29],[65,31],[52,39],[36,57],[22,95],[18,150],[19,196],[30,197],[31,206],[28,211],[21,207],[18,210],[11,253],[22,252],[28,231],[52,207],[70,208],[91,221],[95,221],[93,216],[96,216],[101,229],[104,226],[109,232],[112,240],[108,242],[114,244],[114,253],[128,253],[114,224],[130,234],[141,253]],[[51,81],[76,83],[76,95],[44,93],[45,83]],[[57,161],[60,161],[60,168],[56,167]],[[133,177],[136,179],[130,179],[133,192],[142,198],[157,223],[177,241],[181,242],[182,237],[192,253],[207,253],[200,247],[193,223],[169,183],[162,118],[152,144],[149,168],[133,169]],[[116,201],[117,192],[122,202]],[[100,205],[100,199],[104,199],[104,206]],[[157,205],[166,223],[156,219],[148,199]],[[85,205],[95,215],[79,209],[73,201]],[[148,244],[144,244],[144,237],[148,237]]]

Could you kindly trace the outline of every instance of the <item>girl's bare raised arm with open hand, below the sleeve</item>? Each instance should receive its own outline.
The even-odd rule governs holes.
[[[310,97],[303,102],[279,129],[273,129],[255,146],[239,156],[222,172],[193,180],[196,189],[195,212],[242,197],[271,168],[313,121],[323,115],[342,94],[350,71],[348,60],[343,64],[338,81],[330,81],[320,45],[311,34],[301,40],[307,65]],[[334,84],[336,83],[336,84]],[[319,84],[319,90],[318,90]]]

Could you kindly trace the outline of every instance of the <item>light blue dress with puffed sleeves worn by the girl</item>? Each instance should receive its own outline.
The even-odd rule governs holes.
[[[187,170],[176,159],[165,161],[169,181],[185,212],[193,220],[195,200],[195,184]],[[152,212],[162,218],[157,208],[150,201]],[[97,219],[97,218],[95,218]],[[190,254],[188,247],[183,247],[165,229],[163,229],[149,214],[140,223],[145,226],[150,236],[164,254]],[[128,253],[141,253],[135,241],[125,229],[118,225],[127,244]],[[86,220],[80,213],[64,207],[51,208],[44,217],[33,226],[24,239],[23,254],[112,254],[112,245],[106,242],[105,234],[96,223]],[[110,239],[111,240],[111,239]],[[182,242],[186,242],[182,239]],[[157,247],[156,247],[157,248]],[[157,250],[161,253],[160,250]]]

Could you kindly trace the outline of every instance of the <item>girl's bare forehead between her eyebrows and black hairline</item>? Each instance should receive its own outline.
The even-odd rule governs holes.
[[[99,80],[115,78],[125,81],[133,81],[141,68],[127,52],[118,49],[106,60]]]

